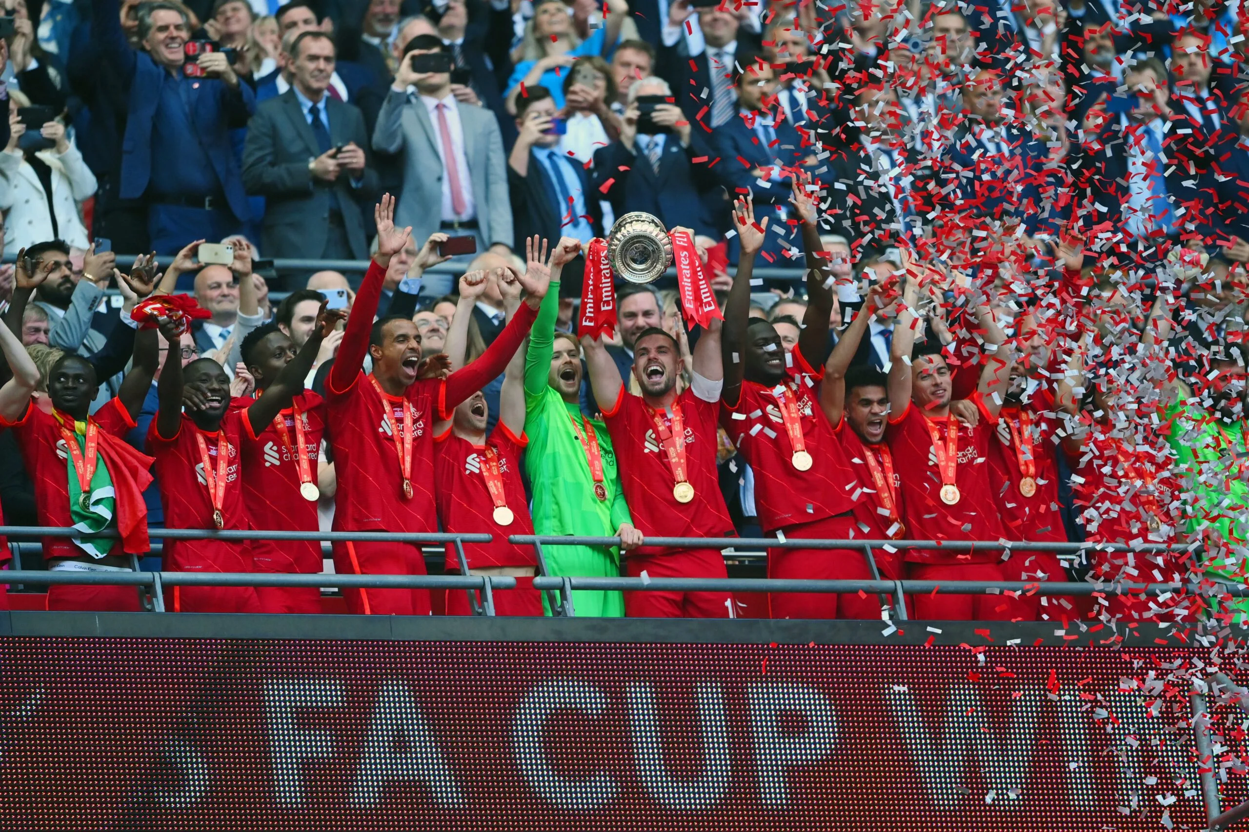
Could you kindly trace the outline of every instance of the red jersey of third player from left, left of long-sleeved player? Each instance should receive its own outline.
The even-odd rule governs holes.
[[[316,485],[316,467],[325,435],[325,402],[312,390],[295,397],[295,407],[279,418],[286,425],[286,440],[272,422],[254,425],[242,413],[242,489],[251,528],[264,530],[316,531],[316,500],[300,494],[300,467],[294,448],[297,443],[295,410],[304,424],[304,453]],[[257,430],[260,428],[260,430]],[[287,442],[290,444],[287,444]],[[318,573],[322,568],[321,544],[309,541],[254,540],[251,556],[261,573]]]

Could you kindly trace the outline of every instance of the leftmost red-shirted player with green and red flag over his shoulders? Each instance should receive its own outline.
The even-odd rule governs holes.
[[[27,274],[17,256],[19,288],[32,289],[47,272]],[[141,263],[134,276],[114,272],[135,294],[152,291],[150,271]],[[130,326],[137,326],[122,318]],[[12,378],[0,388],[0,428],[14,432],[22,463],[35,489],[39,524],[72,526],[71,538],[45,538],[44,559],[54,571],[129,571],[127,555],[149,549],[147,506],[142,490],[151,483],[151,458],[124,442],[135,427],[156,373],[157,332],[141,329],[135,334],[134,367],[121,383],[117,395],[89,413],[99,393],[99,379],[90,362],[67,354],[47,374],[50,413],[36,407],[31,393],[39,384],[39,370],[25,348],[6,326],[0,323],[0,347],[12,370]],[[119,538],[100,536],[116,530]],[[134,586],[51,585],[47,609],[87,611],[135,611],[140,607]]]

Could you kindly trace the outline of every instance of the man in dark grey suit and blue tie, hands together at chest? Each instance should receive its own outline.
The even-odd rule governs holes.
[[[247,126],[242,181],[265,197],[262,251],[269,257],[368,259],[358,200],[371,201],[368,132],[360,110],[326,94],[333,40],[305,31],[287,56],[291,89],[256,107]]]

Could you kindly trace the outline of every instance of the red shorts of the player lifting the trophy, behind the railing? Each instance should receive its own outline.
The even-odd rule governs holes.
[[[682,549],[664,555],[634,555],[624,559],[629,578],[728,578],[718,549]],[[631,619],[731,619],[728,593],[624,593],[624,615]]]

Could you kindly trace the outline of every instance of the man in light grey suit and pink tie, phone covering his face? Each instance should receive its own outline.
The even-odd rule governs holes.
[[[488,247],[507,254],[512,208],[498,120],[490,110],[456,100],[450,66],[446,72],[412,69],[413,57],[443,54],[450,59],[451,47],[440,37],[413,37],[403,47],[403,60],[377,116],[373,150],[403,153],[403,188],[395,223],[412,226],[413,239],[428,239],[442,231],[452,237],[476,237],[478,253]],[[467,264],[471,259],[467,254],[455,262]],[[426,293],[445,294],[451,287],[451,274],[425,276]]]

